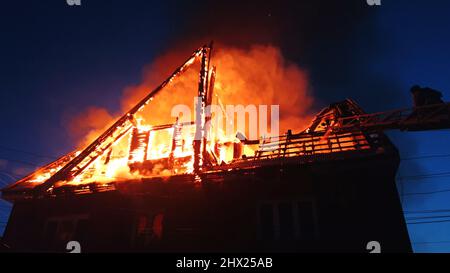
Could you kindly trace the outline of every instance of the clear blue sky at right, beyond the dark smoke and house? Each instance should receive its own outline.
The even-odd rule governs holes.
[[[393,3],[384,6],[377,18],[379,31],[384,33],[386,41],[384,57],[375,64],[377,69],[394,78],[403,90],[413,83],[429,85],[443,91],[449,101],[450,79],[446,74],[450,71],[450,4],[448,1],[390,2]],[[407,102],[409,94],[403,95]],[[409,159],[422,155],[450,155],[448,130],[395,132],[391,136],[405,159],[399,177],[450,171],[450,157]],[[415,143],[415,148],[411,148],[410,143]],[[446,211],[450,209],[450,177],[405,178],[399,179],[399,183],[405,195],[402,198],[407,222],[436,222],[408,225],[414,249],[449,252],[450,222],[445,221],[450,219]],[[434,210],[438,211],[430,212]],[[416,213],[424,211],[426,213]]]

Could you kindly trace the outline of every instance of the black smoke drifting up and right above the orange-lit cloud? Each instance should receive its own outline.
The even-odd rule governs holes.
[[[186,1],[172,44],[214,40],[249,48],[271,44],[308,71],[316,110],[353,98],[368,111],[402,107],[395,79],[376,65],[389,47],[380,9],[361,0]]]

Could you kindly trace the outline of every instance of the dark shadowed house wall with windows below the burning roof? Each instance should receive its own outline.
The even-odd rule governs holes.
[[[398,154],[118,184],[116,191],[17,201],[15,251],[410,252]]]

